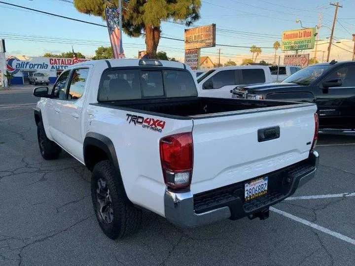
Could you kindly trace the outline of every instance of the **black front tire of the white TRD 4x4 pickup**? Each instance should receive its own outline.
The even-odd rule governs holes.
[[[44,160],[54,160],[59,157],[62,148],[47,137],[42,122],[37,124],[37,139],[39,151]]]

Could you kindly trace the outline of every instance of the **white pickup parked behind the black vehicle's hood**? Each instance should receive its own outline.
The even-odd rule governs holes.
[[[268,66],[224,66],[213,68],[197,78],[202,97],[230,98],[236,85],[271,83]]]

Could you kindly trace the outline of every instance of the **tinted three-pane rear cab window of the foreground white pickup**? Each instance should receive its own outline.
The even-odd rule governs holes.
[[[101,77],[98,101],[197,97],[190,72],[164,68],[112,68]]]

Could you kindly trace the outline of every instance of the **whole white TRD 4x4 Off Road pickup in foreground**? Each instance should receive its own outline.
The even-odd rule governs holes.
[[[318,167],[317,106],[202,98],[182,63],[99,60],[37,87],[39,150],[92,171],[103,232],[135,232],[142,209],[178,226],[265,219]]]

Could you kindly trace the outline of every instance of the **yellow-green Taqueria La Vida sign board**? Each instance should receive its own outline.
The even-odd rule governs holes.
[[[313,49],[316,39],[315,35],[316,28],[283,32],[281,48],[283,51]]]

